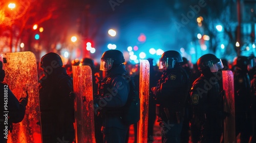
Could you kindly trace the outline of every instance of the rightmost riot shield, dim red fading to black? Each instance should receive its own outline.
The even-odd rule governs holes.
[[[222,71],[223,90],[225,95],[223,97],[224,111],[230,115],[224,120],[224,142],[236,142],[236,125],[234,119],[234,81],[231,70]]]

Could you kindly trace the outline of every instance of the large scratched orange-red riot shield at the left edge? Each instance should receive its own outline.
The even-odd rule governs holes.
[[[25,117],[22,122],[13,124],[8,142],[42,142],[40,129],[40,106],[36,58],[32,52],[1,54],[6,76],[4,82],[9,85],[19,100],[29,94]]]

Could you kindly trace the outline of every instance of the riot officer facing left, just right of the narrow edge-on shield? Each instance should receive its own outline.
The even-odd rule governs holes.
[[[151,89],[157,100],[156,114],[160,122],[162,142],[180,142],[189,84],[181,62],[183,60],[179,52],[164,52],[159,61],[159,69],[164,71],[157,86]]]

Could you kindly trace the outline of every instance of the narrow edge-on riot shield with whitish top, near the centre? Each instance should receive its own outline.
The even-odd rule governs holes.
[[[150,96],[150,63],[140,60],[140,120],[138,122],[137,142],[147,142],[148,99]]]

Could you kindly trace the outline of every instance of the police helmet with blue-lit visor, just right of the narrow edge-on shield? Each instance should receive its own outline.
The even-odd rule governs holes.
[[[182,57],[177,51],[166,51],[159,59],[159,69],[174,68],[176,63],[183,62]]]

